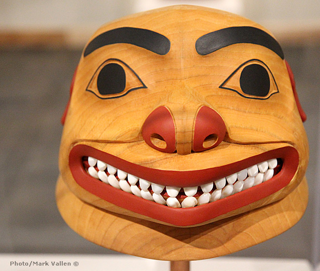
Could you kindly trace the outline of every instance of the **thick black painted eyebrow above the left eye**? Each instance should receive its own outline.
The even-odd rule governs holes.
[[[121,27],[104,32],[92,39],[83,55],[87,56],[102,46],[115,43],[133,44],[159,55],[165,55],[170,50],[170,40],[157,32],[142,28]]]

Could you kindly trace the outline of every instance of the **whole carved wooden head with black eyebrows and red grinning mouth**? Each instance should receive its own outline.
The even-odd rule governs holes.
[[[63,117],[57,204],[88,240],[160,260],[244,249],[307,204],[308,142],[277,40],[173,6],[101,27]]]

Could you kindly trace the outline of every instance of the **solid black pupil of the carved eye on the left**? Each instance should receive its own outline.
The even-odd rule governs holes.
[[[125,72],[117,63],[107,64],[98,75],[97,87],[101,95],[120,93],[125,89]]]

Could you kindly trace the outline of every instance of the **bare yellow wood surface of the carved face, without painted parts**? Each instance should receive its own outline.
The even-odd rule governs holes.
[[[292,227],[306,207],[307,185],[302,180],[309,150],[285,62],[257,44],[233,44],[206,56],[200,56],[195,49],[199,37],[230,26],[268,30],[223,11],[174,6],[111,22],[90,40],[123,26],[164,35],[170,40],[170,51],[158,55],[132,44],[117,43],[81,56],[61,140],[61,177],[57,185],[58,207],[70,227],[104,247],[169,261],[226,255]],[[85,91],[89,84],[96,87],[91,78],[96,78],[101,65],[117,62],[115,58],[134,70],[147,88],[116,99],[99,99]],[[265,100],[246,99],[235,91],[219,88],[241,64],[252,59],[268,66],[273,75],[271,87],[274,91],[278,87],[278,93]],[[141,85],[131,70],[125,65],[122,68],[126,69],[127,90]],[[239,89],[239,78],[236,74],[228,86]],[[145,120],[161,106],[174,120],[176,153],[157,151],[142,137]],[[191,151],[195,118],[202,106],[221,116],[226,135],[218,147],[196,153]],[[174,171],[218,168],[292,147],[299,154],[299,166],[289,184],[278,192],[191,228],[178,228],[116,206],[80,187],[71,174],[68,158],[79,144],[144,167]]]

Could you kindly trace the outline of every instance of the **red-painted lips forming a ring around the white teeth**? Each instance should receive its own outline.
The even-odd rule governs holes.
[[[82,156],[95,157],[125,172],[154,183],[178,187],[181,187],[182,183],[185,183],[184,187],[199,186],[275,157],[281,158],[283,165],[281,171],[272,179],[240,193],[193,208],[172,208],[126,193],[91,177],[83,168]],[[221,167],[192,171],[166,171],[147,168],[86,145],[75,146],[69,155],[71,173],[75,181],[83,189],[117,206],[175,226],[197,225],[274,194],[292,180],[298,165],[298,152],[290,146],[255,155]],[[193,181],[191,182],[190,179]],[[177,180],[184,181],[178,182]]]

